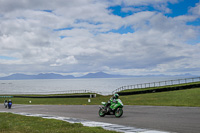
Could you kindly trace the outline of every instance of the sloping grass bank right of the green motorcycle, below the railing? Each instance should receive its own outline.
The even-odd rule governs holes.
[[[200,88],[121,96],[125,105],[200,107]]]

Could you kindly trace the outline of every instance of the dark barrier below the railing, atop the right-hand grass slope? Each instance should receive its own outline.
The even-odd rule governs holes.
[[[159,88],[159,89],[151,89],[151,90],[143,90],[143,91],[118,92],[118,94],[120,96],[125,96],[125,95],[136,95],[136,94],[146,94],[146,93],[184,90],[184,89],[191,89],[191,88],[197,88],[197,87],[200,87],[200,83],[199,84],[193,84],[193,85],[175,86],[175,87],[163,87],[163,88]]]

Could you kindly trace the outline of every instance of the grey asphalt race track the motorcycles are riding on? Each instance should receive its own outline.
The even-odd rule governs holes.
[[[98,116],[97,105],[13,105],[12,109],[0,105],[1,112],[46,114],[80,118],[97,122],[125,125],[178,133],[200,132],[199,107],[125,106],[121,118]]]

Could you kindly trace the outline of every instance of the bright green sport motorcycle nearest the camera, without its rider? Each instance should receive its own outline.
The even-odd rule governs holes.
[[[110,102],[110,107],[106,108],[106,102],[101,102],[103,106],[99,106],[99,116],[104,117],[105,115],[115,115],[115,117],[119,118],[123,115],[123,103],[120,99],[116,99],[115,101]]]

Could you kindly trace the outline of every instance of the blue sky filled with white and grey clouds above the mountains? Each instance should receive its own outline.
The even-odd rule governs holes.
[[[0,0],[0,76],[200,75],[199,0]]]

